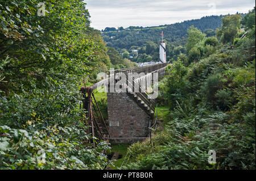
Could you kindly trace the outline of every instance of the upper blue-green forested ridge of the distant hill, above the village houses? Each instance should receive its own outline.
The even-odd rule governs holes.
[[[194,26],[201,31],[207,29],[216,30],[221,26],[222,16],[206,16],[201,19],[187,20],[181,23],[169,24],[159,27],[129,27],[124,30],[109,31],[106,28],[102,36],[109,47],[115,49],[130,49],[133,46],[141,47],[147,41],[159,41],[161,32],[164,32],[164,39],[168,43],[184,45],[187,29]],[[110,29],[114,30],[114,29]],[[113,38],[111,38],[113,37]]]

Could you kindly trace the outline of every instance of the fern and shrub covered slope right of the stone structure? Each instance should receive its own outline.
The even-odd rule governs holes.
[[[255,8],[242,19],[249,33],[238,28],[239,15],[222,18],[222,44],[189,28],[191,50],[168,66],[160,82],[161,102],[166,100],[170,107],[167,123],[156,132],[152,145],[144,141],[130,146],[129,163],[122,169],[255,169],[251,14],[255,19]],[[209,150],[216,151],[216,163],[208,163]]]

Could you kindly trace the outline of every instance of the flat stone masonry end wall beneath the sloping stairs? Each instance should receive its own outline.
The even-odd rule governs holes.
[[[108,92],[108,117],[110,136],[121,138],[110,142],[133,143],[143,140],[134,137],[148,137],[151,117],[127,93]]]

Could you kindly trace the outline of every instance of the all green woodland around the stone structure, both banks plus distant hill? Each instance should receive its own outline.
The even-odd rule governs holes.
[[[127,146],[117,169],[255,169],[255,7],[101,32],[83,0],[0,0],[0,19],[1,170],[113,167],[113,145],[86,133],[80,87],[155,60],[161,31],[172,64],[159,82],[159,128],[153,144]]]

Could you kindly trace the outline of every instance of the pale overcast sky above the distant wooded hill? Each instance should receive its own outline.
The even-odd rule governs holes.
[[[199,19],[207,15],[248,12],[255,0],[86,0],[91,26],[159,26]]]

